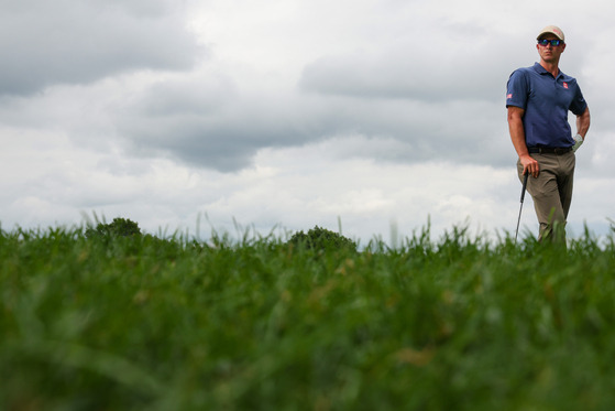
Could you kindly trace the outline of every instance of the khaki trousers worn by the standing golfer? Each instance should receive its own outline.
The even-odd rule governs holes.
[[[575,155],[565,154],[530,154],[540,165],[540,174],[531,175],[527,181],[527,192],[534,199],[534,208],[540,234],[538,240],[545,238],[559,240],[565,238],[565,219],[572,202],[572,183],[574,180]],[[517,172],[523,182],[524,167],[517,161]],[[556,235],[553,235],[556,231]]]

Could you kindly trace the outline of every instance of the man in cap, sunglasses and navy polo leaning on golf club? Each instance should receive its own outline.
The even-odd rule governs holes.
[[[590,110],[576,79],[559,69],[565,50],[561,29],[548,25],[538,33],[540,62],[515,71],[508,79],[506,108],[513,145],[519,156],[519,179],[529,173],[527,191],[540,223],[539,241],[565,239],[572,201],[574,152],[590,129]],[[576,116],[572,136],[568,111]]]

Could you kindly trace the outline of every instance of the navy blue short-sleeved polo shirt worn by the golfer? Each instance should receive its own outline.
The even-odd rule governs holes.
[[[506,88],[506,107],[525,110],[523,121],[527,147],[574,145],[568,111],[580,116],[587,107],[575,78],[561,71],[553,78],[536,63],[532,67],[515,71]]]

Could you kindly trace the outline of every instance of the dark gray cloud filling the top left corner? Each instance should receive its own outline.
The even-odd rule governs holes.
[[[200,52],[169,1],[0,2],[0,94],[140,68],[188,69]]]

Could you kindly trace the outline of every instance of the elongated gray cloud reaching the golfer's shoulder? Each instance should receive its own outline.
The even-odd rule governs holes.
[[[432,37],[384,51],[326,56],[306,66],[300,87],[361,98],[496,101],[513,68],[494,42]]]

